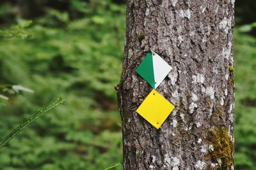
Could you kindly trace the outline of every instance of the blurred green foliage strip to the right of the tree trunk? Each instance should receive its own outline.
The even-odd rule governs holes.
[[[254,169],[256,166],[256,38],[244,33],[244,26],[235,29],[236,82],[236,169]]]

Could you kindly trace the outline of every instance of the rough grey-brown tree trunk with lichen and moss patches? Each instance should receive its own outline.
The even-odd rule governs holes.
[[[234,169],[234,0],[129,0],[118,91],[124,169]],[[152,88],[134,70],[154,50],[156,89],[175,109],[159,130],[136,109]]]

